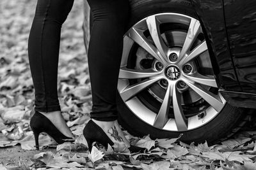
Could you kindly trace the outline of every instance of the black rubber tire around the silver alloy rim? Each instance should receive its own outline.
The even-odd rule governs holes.
[[[186,0],[132,0],[131,1],[131,20],[129,21],[127,31],[136,23],[151,15],[159,13],[178,13],[189,17],[197,18],[191,3]],[[218,89],[217,89],[218,90]],[[120,89],[119,89],[120,91]],[[230,104],[223,104],[221,111],[216,114],[211,121],[200,127],[189,129],[188,131],[166,131],[156,128],[145,120],[141,120],[138,115],[131,111],[124,99],[118,92],[118,122],[124,129],[134,136],[145,136],[150,134],[150,138],[180,138],[185,143],[202,143],[205,140],[209,144],[214,144],[221,139],[230,136],[239,129],[248,120],[248,115],[244,113],[246,110],[235,108]]]

